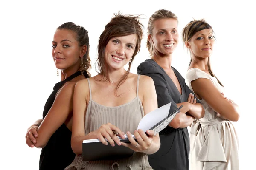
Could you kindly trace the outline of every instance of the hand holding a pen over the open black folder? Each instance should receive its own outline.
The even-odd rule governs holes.
[[[100,142],[102,142],[102,144],[108,145],[108,142],[109,142],[111,146],[115,146],[115,142],[116,142],[116,144],[120,146],[121,142],[113,131],[116,131],[118,133],[118,136],[120,136],[122,139],[125,138],[124,136],[125,133],[122,132],[115,125],[112,125],[111,123],[101,125],[101,127],[99,127],[98,130],[95,130],[89,133],[89,135],[92,136],[92,138],[94,139],[95,138],[99,139]],[[104,138],[106,138],[108,142]]]

